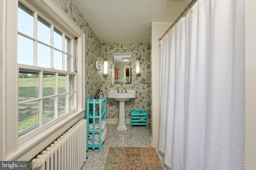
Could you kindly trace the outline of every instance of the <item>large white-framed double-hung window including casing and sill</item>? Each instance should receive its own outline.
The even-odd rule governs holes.
[[[84,33],[54,0],[0,7],[1,158],[30,160],[84,117]]]

